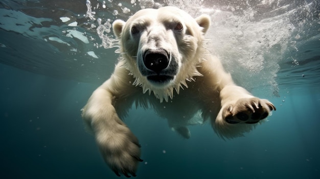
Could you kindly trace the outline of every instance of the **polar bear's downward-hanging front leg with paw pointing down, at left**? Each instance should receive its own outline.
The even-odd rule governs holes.
[[[107,83],[107,82],[106,82]],[[118,175],[136,176],[140,145],[112,106],[113,95],[102,87],[89,98],[82,117],[96,137],[96,142],[108,166]]]

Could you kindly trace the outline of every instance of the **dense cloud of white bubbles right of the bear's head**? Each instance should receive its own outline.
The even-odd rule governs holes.
[[[285,16],[253,21],[249,19],[252,13],[252,9],[244,11],[243,16],[212,12],[209,46],[226,70],[236,76],[237,84],[278,96],[275,76],[293,27]]]

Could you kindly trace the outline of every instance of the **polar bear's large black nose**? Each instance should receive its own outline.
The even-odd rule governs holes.
[[[168,67],[169,55],[164,49],[149,49],[143,57],[143,62],[148,69],[159,74],[161,70]]]

